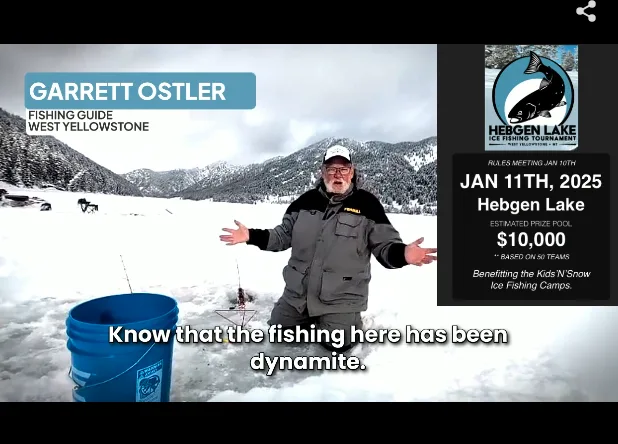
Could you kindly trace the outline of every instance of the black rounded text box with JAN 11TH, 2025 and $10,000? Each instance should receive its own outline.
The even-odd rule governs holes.
[[[453,296],[609,298],[609,156],[457,154]]]

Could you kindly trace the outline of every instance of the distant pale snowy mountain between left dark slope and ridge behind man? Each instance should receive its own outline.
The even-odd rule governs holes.
[[[170,171],[153,171],[139,169],[121,174],[122,177],[136,185],[144,196],[168,197],[185,190],[208,177],[224,176],[238,167],[227,162],[215,162],[201,168],[176,169]]]

